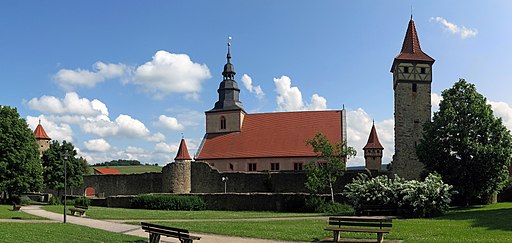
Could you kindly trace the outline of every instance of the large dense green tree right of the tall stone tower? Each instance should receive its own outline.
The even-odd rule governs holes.
[[[475,85],[460,79],[442,96],[439,111],[424,126],[417,154],[428,172],[437,171],[469,205],[505,185],[512,138]]]

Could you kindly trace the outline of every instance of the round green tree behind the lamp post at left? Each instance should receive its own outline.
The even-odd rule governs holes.
[[[67,155],[67,159],[65,158]],[[47,187],[58,190],[64,189],[64,161],[66,162],[67,184],[76,188],[83,184],[83,175],[86,173],[82,157],[76,157],[73,144],[63,141],[53,141],[50,148],[43,153],[43,175]]]

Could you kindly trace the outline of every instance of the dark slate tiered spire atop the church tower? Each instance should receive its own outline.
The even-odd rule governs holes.
[[[217,92],[219,100],[215,102],[215,107],[211,111],[217,110],[243,110],[242,102],[240,102],[240,89],[235,81],[235,66],[231,63],[231,37],[228,41],[228,54],[226,55],[227,63],[222,71],[222,82]]]

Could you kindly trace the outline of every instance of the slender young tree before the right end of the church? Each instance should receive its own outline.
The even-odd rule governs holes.
[[[306,164],[307,171],[306,188],[317,193],[326,188],[331,191],[331,201],[334,203],[333,185],[336,179],[343,175],[346,160],[356,155],[352,147],[346,142],[331,144],[322,133],[317,133],[313,139],[306,141],[307,145],[313,147],[317,159]]]

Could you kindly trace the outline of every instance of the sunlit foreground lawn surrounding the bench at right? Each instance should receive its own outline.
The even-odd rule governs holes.
[[[323,220],[238,221],[238,222],[160,222],[159,224],[221,235],[275,240],[312,241],[329,237]],[[376,234],[342,234],[349,238],[376,239]],[[452,210],[431,219],[393,221],[387,239],[404,242],[512,242],[512,203]]]

